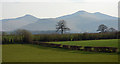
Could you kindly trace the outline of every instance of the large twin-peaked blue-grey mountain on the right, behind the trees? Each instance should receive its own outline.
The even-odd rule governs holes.
[[[68,21],[68,25],[75,32],[96,32],[100,24],[118,29],[118,19],[100,12],[88,13],[78,11],[76,13],[58,17]]]

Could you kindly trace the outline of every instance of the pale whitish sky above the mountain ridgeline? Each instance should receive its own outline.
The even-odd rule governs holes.
[[[119,0],[0,0],[0,19],[26,14],[38,18],[56,18],[84,10],[118,17]]]

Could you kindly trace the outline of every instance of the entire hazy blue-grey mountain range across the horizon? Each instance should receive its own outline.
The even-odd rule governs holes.
[[[89,13],[86,11],[78,11],[73,14],[48,19],[39,19],[32,15],[25,15],[14,19],[3,19],[2,27],[5,31],[16,29],[54,31],[59,20],[65,20],[71,32],[96,32],[100,24],[118,29],[117,17],[112,17],[100,12]]]

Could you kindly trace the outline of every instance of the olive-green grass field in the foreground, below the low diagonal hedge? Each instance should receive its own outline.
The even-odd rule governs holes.
[[[118,62],[117,54],[72,51],[32,44],[2,45],[3,62]]]

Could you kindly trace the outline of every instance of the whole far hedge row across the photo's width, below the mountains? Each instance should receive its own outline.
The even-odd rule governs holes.
[[[29,39],[29,42],[26,40]],[[33,40],[30,40],[33,39]],[[2,43],[30,43],[31,41],[53,42],[53,41],[79,41],[79,40],[99,40],[99,39],[118,39],[118,33],[83,33],[83,34],[39,34],[33,37],[21,35],[2,36]]]

